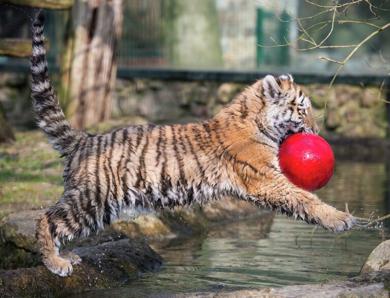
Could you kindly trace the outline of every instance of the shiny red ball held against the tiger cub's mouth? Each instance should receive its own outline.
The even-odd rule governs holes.
[[[331,146],[313,134],[294,134],[279,147],[283,174],[296,186],[313,191],[324,186],[335,169]]]

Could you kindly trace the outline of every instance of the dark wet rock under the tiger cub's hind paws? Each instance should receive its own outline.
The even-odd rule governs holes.
[[[163,259],[140,240],[126,239],[73,250],[81,258],[70,277],[59,277],[46,267],[0,273],[1,297],[51,297],[94,288],[106,288],[159,270]]]

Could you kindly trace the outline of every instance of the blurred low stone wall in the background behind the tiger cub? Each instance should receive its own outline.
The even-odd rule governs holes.
[[[52,79],[55,84],[56,76]],[[226,82],[117,79],[112,118],[130,117],[134,120],[136,116],[137,123],[200,121],[218,113],[245,86],[247,84]],[[311,95],[314,114],[321,124],[327,85],[310,84],[303,87]],[[321,134],[350,138],[386,138],[386,90],[382,90],[379,98],[378,91],[378,87],[372,86],[363,88],[335,85],[329,94]],[[0,74],[0,102],[13,126],[18,129],[34,127],[27,75]]]

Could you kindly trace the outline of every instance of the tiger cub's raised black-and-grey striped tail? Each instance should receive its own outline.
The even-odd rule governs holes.
[[[43,129],[54,149],[64,156],[72,151],[75,143],[85,134],[74,129],[65,119],[59,106],[53,86],[47,71],[46,49],[44,45],[43,11],[39,11],[33,26],[33,55],[30,59],[30,69],[33,75],[31,81],[31,97],[37,113],[38,125]]]

